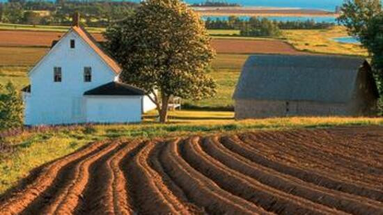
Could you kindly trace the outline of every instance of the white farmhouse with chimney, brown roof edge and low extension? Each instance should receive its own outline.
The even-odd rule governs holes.
[[[141,122],[155,109],[143,90],[118,82],[119,65],[78,24],[29,72],[25,125]]]

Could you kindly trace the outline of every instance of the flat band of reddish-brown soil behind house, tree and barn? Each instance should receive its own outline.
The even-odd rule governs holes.
[[[62,35],[49,31],[0,31],[0,47],[50,47]],[[103,40],[100,33],[93,36],[97,41]],[[307,54],[278,40],[214,39],[212,46],[222,54]]]

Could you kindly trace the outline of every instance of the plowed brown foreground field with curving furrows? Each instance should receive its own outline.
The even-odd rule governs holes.
[[[383,214],[383,129],[355,129],[97,142],[38,168],[0,214]]]

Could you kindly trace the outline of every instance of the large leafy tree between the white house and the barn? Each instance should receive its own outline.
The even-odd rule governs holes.
[[[134,15],[109,26],[104,36],[123,67],[120,79],[146,91],[160,122],[168,118],[171,97],[214,95],[216,84],[207,75],[214,57],[210,37],[200,17],[180,0],[143,1]]]

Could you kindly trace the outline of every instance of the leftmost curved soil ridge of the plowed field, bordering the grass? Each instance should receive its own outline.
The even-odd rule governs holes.
[[[76,152],[69,154],[61,159],[58,159],[51,164],[45,166],[31,184],[27,185],[22,190],[14,191],[10,198],[0,203],[0,214],[19,214],[29,205],[37,201],[42,193],[50,186],[54,186],[54,181],[58,173],[65,169],[66,166],[75,163],[79,159],[84,159],[92,152],[97,152],[104,147],[106,142],[96,142],[91,145],[81,148]]]

